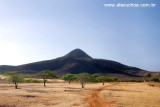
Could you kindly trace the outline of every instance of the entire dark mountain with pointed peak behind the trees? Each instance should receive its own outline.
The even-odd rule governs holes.
[[[68,73],[77,74],[87,72],[91,74],[99,74],[106,76],[114,76],[118,78],[124,77],[147,77],[149,74],[160,76],[159,73],[152,73],[140,68],[127,66],[119,62],[94,59],[81,49],[75,49],[65,56],[34,62],[19,66],[0,66],[0,73],[6,71],[18,71],[19,73],[35,74],[42,70],[52,70],[57,76],[63,76]]]

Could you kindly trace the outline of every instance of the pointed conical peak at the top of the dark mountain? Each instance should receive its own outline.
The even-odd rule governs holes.
[[[92,58],[88,54],[86,54],[83,50],[78,49],[78,48],[72,50],[66,56],[73,57],[73,58]]]

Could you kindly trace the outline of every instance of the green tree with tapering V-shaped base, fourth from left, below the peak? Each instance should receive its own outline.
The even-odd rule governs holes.
[[[76,75],[77,80],[80,81],[82,88],[86,85],[86,82],[89,81],[90,74],[88,73],[80,73]]]

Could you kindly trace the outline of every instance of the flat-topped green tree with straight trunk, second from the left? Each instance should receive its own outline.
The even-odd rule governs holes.
[[[44,87],[46,87],[46,81],[47,79],[56,78],[54,73],[50,70],[44,70],[39,73],[40,78],[43,79]]]

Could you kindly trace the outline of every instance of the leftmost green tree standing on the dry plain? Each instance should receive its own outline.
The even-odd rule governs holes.
[[[15,84],[15,89],[18,89],[18,83],[23,82],[22,75],[18,74],[17,71],[7,72],[7,76],[9,76],[9,81],[13,82]]]

